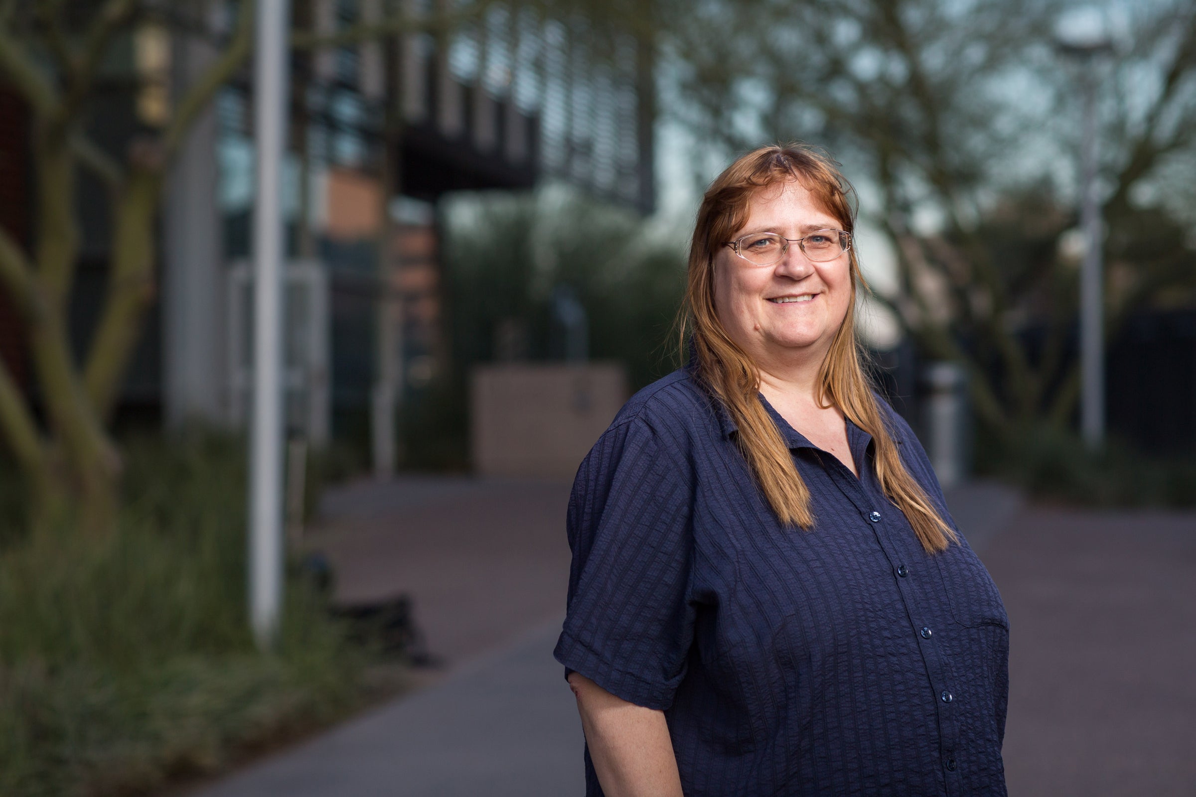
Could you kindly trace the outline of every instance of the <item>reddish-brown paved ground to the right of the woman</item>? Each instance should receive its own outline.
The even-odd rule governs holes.
[[[984,556],[1009,614],[1015,797],[1196,795],[1196,514],[1020,514]]]

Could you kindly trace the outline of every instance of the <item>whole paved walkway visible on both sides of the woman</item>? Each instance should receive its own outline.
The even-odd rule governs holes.
[[[582,740],[551,658],[568,485],[399,479],[332,492],[315,542],[346,600],[408,591],[446,668],[427,688],[202,797],[579,796]],[[1196,515],[948,496],[1013,624],[1011,793],[1196,793]],[[1186,746],[1186,754],[1183,749]]]

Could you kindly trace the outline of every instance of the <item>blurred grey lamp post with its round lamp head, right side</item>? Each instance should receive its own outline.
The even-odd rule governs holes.
[[[1090,449],[1105,441],[1104,229],[1097,197],[1097,61],[1112,51],[1104,19],[1096,8],[1078,8],[1060,19],[1055,31],[1060,53],[1081,65],[1084,136],[1080,143],[1080,430]]]

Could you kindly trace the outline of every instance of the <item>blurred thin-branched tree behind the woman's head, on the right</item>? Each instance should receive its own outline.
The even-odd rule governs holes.
[[[1064,423],[1079,388],[1064,356],[1076,275],[1057,246],[1075,223],[1058,197],[1074,192],[1079,139],[1074,74],[1051,45],[1060,8],[707,2],[672,37],[678,112],[698,137],[724,153],[798,137],[848,163],[896,253],[901,290],[878,298],[926,352],[966,364],[978,417],[1002,435]],[[1110,331],[1160,292],[1196,287],[1165,201],[1192,176],[1196,10],[1154,2],[1127,24],[1102,106],[1106,259],[1125,276],[1107,293]],[[1145,188],[1157,207],[1135,201]],[[1030,319],[1045,319],[1032,345]]]

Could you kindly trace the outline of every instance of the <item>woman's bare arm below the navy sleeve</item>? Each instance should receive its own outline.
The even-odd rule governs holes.
[[[616,698],[579,673],[569,686],[606,797],[682,797],[663,711]]]

